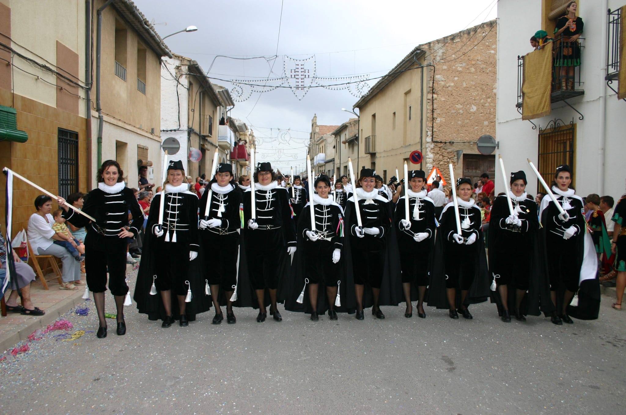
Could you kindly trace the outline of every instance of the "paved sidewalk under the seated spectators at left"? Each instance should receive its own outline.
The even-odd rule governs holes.
[[[138,263],[136,264],[138,265]],[[133,266],[126,265],[126,272],[132,271]],[[85,274],[81,274],[81,279],[85,281]],[[59,283],[53,273],[46,275],[48,290],[44,290],[39,279],[31,283],[31,300],[36,307],[43,309],[46,314],[43,316],[23,316],[16,312],[7,313],[6,317],[0,317],[0,354],[6,349],[15,346],[16,343],[28,339],[36,329],[45,329],[48,324],[52,324],[60,316],[63,316],[69,309],[76,307],[85,300],[85,287],[79,287],[76,291],[59,289]],[[9,291],[4,294],[4,299],[8,299]]]

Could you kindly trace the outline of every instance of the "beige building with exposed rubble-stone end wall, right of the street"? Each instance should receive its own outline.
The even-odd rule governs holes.
[[[415,47],[354,104],[357,164],[388,181],[420,151],[409,169],[436,167],[448,179],[453,163],[457,178],[493,177],[495,157],[479,154],[476,140],[495,136],[495,88],[495,20]]]

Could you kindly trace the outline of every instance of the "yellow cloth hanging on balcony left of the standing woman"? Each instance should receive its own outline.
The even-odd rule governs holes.
[[[540,118],[550,114],[552,90],[552,42],[524,56],[521,93],[521,119]]]

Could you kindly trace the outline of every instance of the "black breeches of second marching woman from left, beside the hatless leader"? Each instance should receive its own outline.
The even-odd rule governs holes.
[[[155,241],[155,285],[158,291],[172,290],[177,296],[187,294],[189,247],[182,242]]]

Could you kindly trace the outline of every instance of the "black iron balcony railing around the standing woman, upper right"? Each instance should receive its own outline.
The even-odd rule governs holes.
[[[581,42],[582,41],[582,42]],[[569,42],[563,40],[562,36],[557,37],[555,41],[553,41],[553,59],[552,59],[552,86],[550,91],[550,102],[558,103],[563,101],[565,104],[571,107],[571,105],[567,102],[567,99],[575,98],[577,96],[581,96],[585,94],[584,89],[582,88],[583,82],[581,81],[580,74],[580,66],[576,66],[574,68],[574,76],[573,78],[568,78],[567,76],[567,66],[558,66],[558,63],[569,59],[572,55],[575,47],[580,47],[581,60],[583,59],[582,55],[584,52],[584,41],[583,37],[578,38],[578,43],[576,41]],[[577,44],[576,44],[577,43]],[[519,109],[523,106],[523,94],[521,92],[522,86],[524,83],[524,57],[517,57],[517,103],[515,104],[516,108]],[[578,111],[577,111],[578,112]],[[580,114],[580,113],[579,113]],[[582,119],[582,118],[581,118]]]

